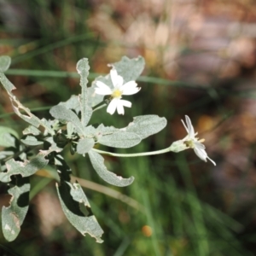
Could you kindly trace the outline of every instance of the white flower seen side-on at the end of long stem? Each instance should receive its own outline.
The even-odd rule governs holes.
[[[185,125],[183,120],[182,122],[186,131],[188,132],[188,135],[184,137],[182,141],[185,144],[186,148],[193,148],[195,151],[195,154],[201,160],[204,160],[205,162],[207,162],[207,159],[208,159],[212,162],[214,166],[216,166],[216,163],[207,156],[207,152],[205,150],[206,147],[204,144],[202,144],[205,141],[205,139],[199,140],[197,137],[195,137],[197,135],[197,132],[194,131],[194,127],[191,124],[189,117],[186,115],[185,118],[186,118],[187,125]]]

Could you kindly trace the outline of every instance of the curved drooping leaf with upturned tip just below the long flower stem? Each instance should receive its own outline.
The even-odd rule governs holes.
[[[90,150],[88,154],[93,168],[105,182],[114,186],[125,187],[131,185],[134,181],[134,177],[124,178],[117,176],[113,172],[109,172],[106,166],[104,166],[104,159],[101,154],[98,154],[93,150]]]

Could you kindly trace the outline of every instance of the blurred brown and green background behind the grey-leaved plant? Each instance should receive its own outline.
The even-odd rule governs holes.
[[[37,187],[46,178],[43,170],[43,177],[32,180],[38,190],[19,238],[9,244],[1,237],[4,247],[20,255],[256,254],[254,1],[0,0],[0,24],[0,55],[13,60],[9,79],[21,102],[41,108],[39,117],[49,118],[43,107],[79,93],[79,80],[71,73],[80,58],[89,58],[93,77],[108,73],[108,63],[123,55],[142,55],[146,67],[137,81],[142,90],[131,97],[132,108],[124,117],[101,110],[92,121],[122,127],[136,115],[166,116],[166,130],[124,151],[133,153],[166,148],[185,137],[180,119],[188,114],[217,163],[202,162],[193,150],[138,160],[106,157],[109,170],[136,177],[131,187],[112,189],[146,210],[85,184],[105,230],[102,245],[67,224],[54,182]],[[49,70],[61,73],[44,73]],[[0,102],[1,125],[21,131],[26,125],[20,119],[4,117],[12,109],[2,89]],[[75,176],[110,187],[83,159],[68,153],[67,158]],[[4,194],[6,186],[0,190]]]

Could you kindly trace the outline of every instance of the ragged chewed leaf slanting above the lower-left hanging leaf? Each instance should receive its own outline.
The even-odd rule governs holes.
[[[28,177],[38,172],[48,164],[49,160],[44,158],[44,155],[39,153],[32,160],[26,162],[15,161],[14,159],[8,160],[5,165],[7,172],[0,172],[0,181],[9,183],[12,175],[20,174],[22,177]]]

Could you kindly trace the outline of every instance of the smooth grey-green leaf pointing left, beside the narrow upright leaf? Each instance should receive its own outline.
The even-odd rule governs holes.
[[[57,105],[50,108],[49,113],[60,121],[71,122],[77,128],[80,134],[84,133],[83,125],[81,124],[79,117],[73,113],[72,110],[65,108],[64,106]]]

